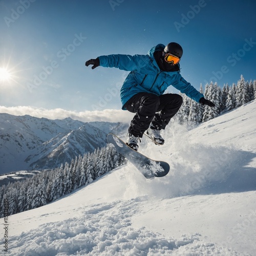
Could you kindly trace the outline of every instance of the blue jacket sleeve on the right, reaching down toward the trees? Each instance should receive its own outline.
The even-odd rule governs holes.
[[[172,83],[172,86],[196,102],[199,102],[199,100],[204,97],[204,95],[197,91],[195,87],[191,86],[191,84],[187,82],[180,73],[177,74],[177,79]]]

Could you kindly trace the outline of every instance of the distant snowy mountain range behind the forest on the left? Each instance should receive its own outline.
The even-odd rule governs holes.
[[[0,113],[0,174],[58,167],[105,146],[108,133],[123,134],[127,126]]]

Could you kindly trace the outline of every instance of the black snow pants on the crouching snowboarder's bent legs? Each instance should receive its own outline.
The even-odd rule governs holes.
[[[136,113],[131,121],[129,133],[142,138],[151,122],[157,130],[164,129],[178,112],[182,102],[182,97],[178,94],[157,96],[152,93],[138,93],[134,95],[124,105],[126,110]]]

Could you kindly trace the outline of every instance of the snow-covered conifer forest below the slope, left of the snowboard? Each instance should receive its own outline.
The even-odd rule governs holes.
[[[31,178],[3,185],[0,188],[0,217],[4,217],[6,200],[9,204],[8,215],[34,209],[91,183],[123,163],[124,158],[108,145],[78,156],[59,168],[44,170]]]

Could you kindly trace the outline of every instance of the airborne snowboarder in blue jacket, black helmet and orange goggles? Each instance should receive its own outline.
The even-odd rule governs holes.
[[[182,47],[176,42],[159,44],[147,55],[112,54],[86,61],[92,69],[101,67],[131,71],[120,90],[122,109],[136,113],[127,134],[126,144],[138,150],[138,142],[146,131],[159,144],[164,143],[160,134],[182,105],[178,94],[163,94],[172,85],[191,99],[210,107],[215,104],[204,98],[180,74]]]

